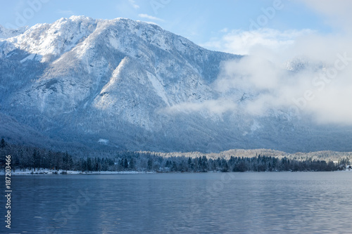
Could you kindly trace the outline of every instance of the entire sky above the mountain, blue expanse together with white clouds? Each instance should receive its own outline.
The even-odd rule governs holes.
[[[265,115],[290,108],[317,123],[352,125],[352,1],[350,0],[0,0],[0,25],[20,27],[71,15],[130,18],[214,51],[250,56],[222,66],[213,88],[247,90],[244,109]],[[309,67],[292,73],[290,61]],[[284,68],[284,69],[283,69]],[[233,103],[233,105],[232,105]],[[180,103],[177,109],[237,111],[234,100]]]

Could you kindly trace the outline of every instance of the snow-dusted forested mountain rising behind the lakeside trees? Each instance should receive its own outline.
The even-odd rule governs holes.
[[[0,111],[7,120],[0,135],[11,141],[40,136],[37,143],[48,147],[155,151],[352,150],[351,129],[314,126],[287,110],[208,111],[224,95],[239,106],[255,98],[214,87],[222,63],[241,56],[208,51],[157,25],[73,16],[5,38]]]

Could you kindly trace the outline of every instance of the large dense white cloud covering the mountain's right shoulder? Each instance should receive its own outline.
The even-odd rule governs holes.
[[[341,35],[307,34],[280,48],[280,53],[253,49],[251,56],[222,65],[215,89],[222,96],[251,93],[254,98],[242,105],[250,115],[292,108],[318,123],[352,124],[349,44],[350,39]],[[287,69],[294,66],[295,72]]]

